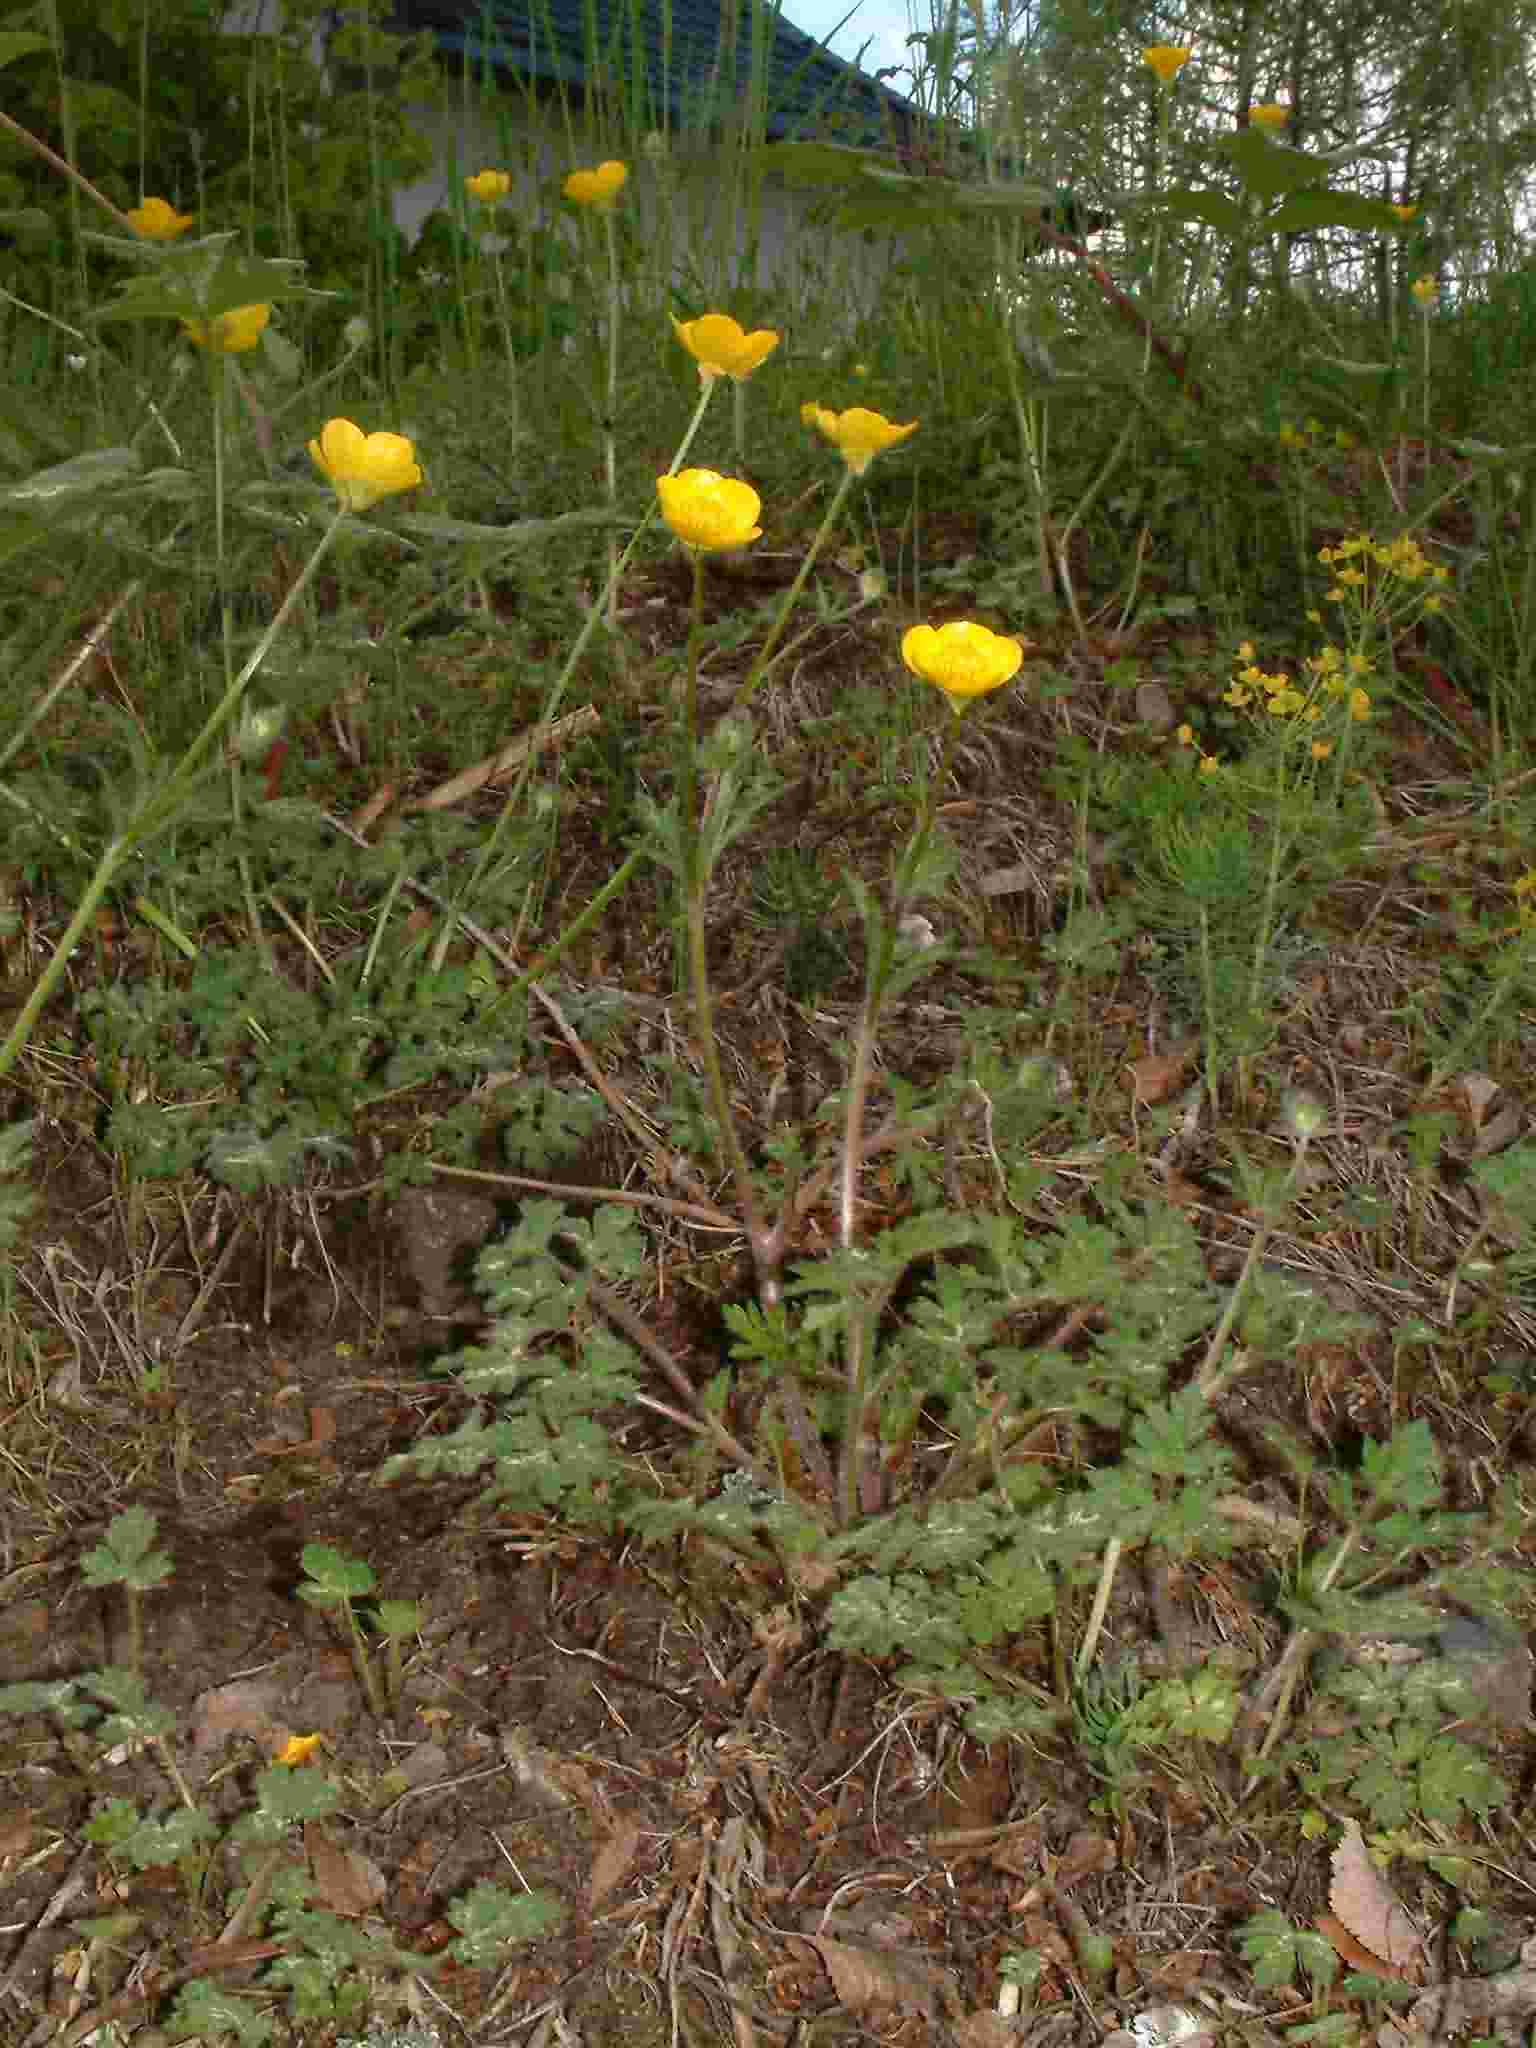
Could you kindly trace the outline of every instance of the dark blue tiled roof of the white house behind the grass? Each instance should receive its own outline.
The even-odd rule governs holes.
[[[389,27],[430,29],[449,59],[602,88],[633,131],[698,129],[733,115],[754,76],[754,35],[768,141],[879,147],[905,141],[915,113],[764,0],[395,0]]]

